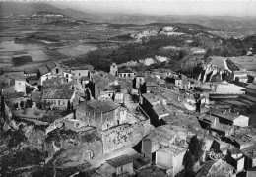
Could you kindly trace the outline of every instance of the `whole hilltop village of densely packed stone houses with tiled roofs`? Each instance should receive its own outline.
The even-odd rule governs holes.
[[[0,73],[2,129],[21,129],[47,151],[42,165],[87,162],[73,176],[94,177],[256,175],[255,72],[205,82],[167,69],[139,73],[112,63],[105,73],[52,61],[33,72],[6,66]],[[56,131],[70,133],[71,142],[93,138],[75,145],[76,153],[46,138]],[[62,164],[54,158],[61,148]]]

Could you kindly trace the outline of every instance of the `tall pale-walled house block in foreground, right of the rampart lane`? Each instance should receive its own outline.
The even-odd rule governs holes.
[[[151,131],[142,140],[142,154],[175,176],[183,167],[187,150],[187,130],[172,125],[164,125]]]

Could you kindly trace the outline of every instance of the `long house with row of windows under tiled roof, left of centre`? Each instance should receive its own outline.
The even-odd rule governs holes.
[[[51,108],[67,109],[75,99],[72,89],[50,89],[42,92],[41,101],[50,104]]]

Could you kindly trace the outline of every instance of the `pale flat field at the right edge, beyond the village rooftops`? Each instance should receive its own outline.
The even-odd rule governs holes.
[[[241,69],[256,71],[256,55],[230,58]]]

